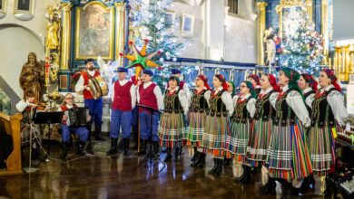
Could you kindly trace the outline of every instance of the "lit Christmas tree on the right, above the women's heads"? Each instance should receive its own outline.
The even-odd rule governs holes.
[[[282,67],[317,74],[323,60],[323,39],[303,8],[299,7],[294,13],[289,14],[284,23],[282,53],[276,59]]]

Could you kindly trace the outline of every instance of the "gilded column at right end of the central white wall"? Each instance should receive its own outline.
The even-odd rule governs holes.
[[[258,64],[264,65],[264,45],[263,45],[263,35],[265,31],[265,20],[266,20],[266,6],[267,3],[260,2],[257,4],[260,8],[260,18],[258,24]]]

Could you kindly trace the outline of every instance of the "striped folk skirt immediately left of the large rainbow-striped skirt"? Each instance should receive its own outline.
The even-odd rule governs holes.
[[[250,145],[247,158],[251,166],[265,165],[270,136],[273,130],[272,120],[263,121],[263,118],[254,120],[254,128],[251,131]]]

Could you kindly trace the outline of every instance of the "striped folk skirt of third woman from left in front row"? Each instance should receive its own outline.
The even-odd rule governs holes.
[[[207,116],[201,142],[204,153],[225,156],[226,140],[230,134],[230,119],[228,117]]]

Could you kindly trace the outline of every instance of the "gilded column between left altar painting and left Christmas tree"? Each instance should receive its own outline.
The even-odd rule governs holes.
[[[124,38],[125,38],[125,4],[115,3],[115,60],[118,61],[120,66],[123,66],[123,58],[119,56],[119,52],[124,52]]]

